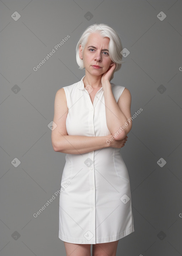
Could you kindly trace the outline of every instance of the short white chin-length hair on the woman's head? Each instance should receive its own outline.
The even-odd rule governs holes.
[[[81,44],[83,50],[85,45],[88,41],[88,37],[91,33],[98,32],[102,37],[109,37],[109,57],[111,60],[116,64],[116,68],[114,72],[118,71],[121,68],[121,64],[124,62],[122,61],[122,54],[121,51],[123,49],[121,40],[116,30],[106,24],[93,24],[87,27],[87,29],[82,33],[77,45],[76,45],[76,62],[79,65],[79,69],[84,69],[84,61],[79,56],[79,46]],[[114,76],[111,77],[111,80]]]

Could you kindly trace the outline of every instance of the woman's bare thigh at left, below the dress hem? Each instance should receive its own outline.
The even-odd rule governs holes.
[[[90,244],[71,244],[64,242],[66,256],[91,256],[90,255]]]

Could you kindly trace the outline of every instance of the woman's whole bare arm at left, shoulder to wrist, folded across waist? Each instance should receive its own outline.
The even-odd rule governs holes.
[[[59,89],[54,101],[54,119],[57,127],[52,130],[51,140],[54,151],[66,154],[83,154],[104,147],[111,147],[106,141],[111,136],[74,136],[68,135],[66,131],[66,117],[68,106],[63,88]]]

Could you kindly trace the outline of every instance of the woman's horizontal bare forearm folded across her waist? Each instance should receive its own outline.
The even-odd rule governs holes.
[[[106,140],[107,136],[61,135],[55,151],[66,154],[84,154],[108,147]]]

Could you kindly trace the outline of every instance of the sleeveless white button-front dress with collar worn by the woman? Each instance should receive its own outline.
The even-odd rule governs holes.
[[[93,105],[83,78],[63,87],[69,109],[68,135],[105,136],[103,89]],[[125,87],[111,83],[118,101]],[[59,196],[59,238],[74,244],[99,244],[119,240],[134,232],[130,181],[120,148],[66,154]]]

